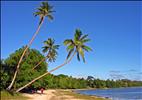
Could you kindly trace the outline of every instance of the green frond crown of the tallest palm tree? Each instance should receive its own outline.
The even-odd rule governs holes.
[[[53,6],[50,6],[48,2],[42,2],[42,5],[37,8],[37,12],[34,13],[35,16],[40,16],[41,20],[44,17],[48,17],[49,20],[53,20],[52,12]]]

